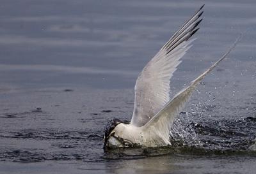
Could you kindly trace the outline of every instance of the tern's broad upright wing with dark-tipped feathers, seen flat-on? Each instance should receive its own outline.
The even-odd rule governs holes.
[[[180,64],[180,58],[191,47],[193,40],[189,38],[199,29],[203,7],[180,27],[141,71],[134,87],[132,125],[145,125],[170,100],[170,78]]]

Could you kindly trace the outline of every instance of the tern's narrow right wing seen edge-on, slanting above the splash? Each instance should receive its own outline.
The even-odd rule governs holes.
[[[242,34],[240,34],[239,38],[237,38],[237,40],[234,42],[234,45],[232,45],[232,47],[225,52],[221,59],[212,64],[212,66],[202,73],[202,75],[193,80],[188,87],[185,87],[178,94],[176,94],[171,101],[169,101],[156,115],[154,115],[151,120],[147,122],[147,124],[142,127],[142,129],[145,131],[155,131],[168,139],[170,134],[170,126],[172,126],[173,120],[184,108],[186,101],[188,101],[190,98],[191,94],[196,88],[196,85],[198,85],[198,83],[204,79],[205,75],[212,71],[212,69],[214,69],[232,51],[237,42],[241,39],[241,36]]]

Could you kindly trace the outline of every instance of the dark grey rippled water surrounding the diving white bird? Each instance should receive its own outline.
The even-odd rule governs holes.
[[[104,153],[130,120],[136,76],[205,3],[172,95],[243,40],[198,87],[173,147]],[[255,1],[1,1],[0,173],[255,173]]]

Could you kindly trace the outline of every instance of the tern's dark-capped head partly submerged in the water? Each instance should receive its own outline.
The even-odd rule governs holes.
[[[127,122],[123,122],[119,119],[109,120],[108,124],[104,130],[104,146],[103,149],[106,151],[108,149],[125,147],[125,142],[122,138],[115,136],[115,128],[118,124],[128,124]]]

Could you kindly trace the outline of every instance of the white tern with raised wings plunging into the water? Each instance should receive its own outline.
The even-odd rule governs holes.
[[[173,120],[185,106],[196,86],[236,46],[234,42],[227,52],[212,66],[170,99],[170,79],[181,58],[195,40],[189,40],[198,31],[202,22],[202,10],[195,12],[167,41],[138,75],[134,87],[135,99],[131,122],[113,119],[104,133],[104,150],[132,147],[163,147],[171,145],[170,128]]]

